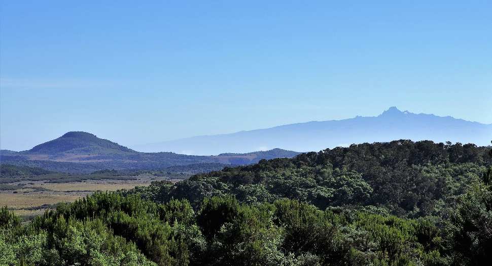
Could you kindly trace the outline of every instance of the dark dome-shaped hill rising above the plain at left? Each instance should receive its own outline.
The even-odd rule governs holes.
[[[58,139],[45,142],[29,150],[30,153],[40,154],[121,154],[136,153],[118,143],[109,140],[99,139],[95,135],[72,131]]]

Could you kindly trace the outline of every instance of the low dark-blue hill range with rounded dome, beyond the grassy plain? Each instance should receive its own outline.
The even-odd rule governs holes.
[[[73,131],[37,145],[28,151],[0,151],[0,162],[41,167],[61,172],[89,173],[101,169],[162,169],[174,165],[223,165],[256,163],[261,159],[293,157],[298,152],[282,149],[245,154],[227,153],[217,156],[192,156],[172,152],[143,153],[121,146],[95,135]]]

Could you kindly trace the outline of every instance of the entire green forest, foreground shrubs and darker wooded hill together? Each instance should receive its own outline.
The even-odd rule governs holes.
[[[484,265],[492,152],[394,141],[96,193],[29,223],[0,265]]]

